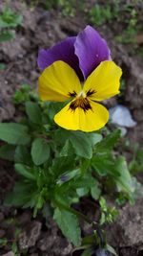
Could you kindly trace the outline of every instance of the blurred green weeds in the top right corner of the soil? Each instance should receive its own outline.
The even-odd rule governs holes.
[[[136,46],[136,35],[138,31],[141,31],[141,26],[138,24],[138,12],[140,1],[133,1],[131,3],[123,3],[120,5],[120,1],[108,0],[105,3],[97,1],[91,8],[90,19],[95,26],[101,26],[107,22],[112,24],[114,19],[124,26],[122,33],[117,31],[115,26],[113,30],[115,33],[115,40],[119,43],[133,43],[134,49]],[[122,21],[122,22],[121,22]]]

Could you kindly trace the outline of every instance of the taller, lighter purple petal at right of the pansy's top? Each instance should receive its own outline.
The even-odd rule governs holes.
[[[85,79],[101,61],[111,59],[106,41],[91,26],[76,36],[74,48]]]

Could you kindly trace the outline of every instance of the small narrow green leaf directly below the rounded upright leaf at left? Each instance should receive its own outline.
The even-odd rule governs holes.
[[[23,164],[15,164],[14,167],[17,174],[23,175],[28,179],[36,180],[35,175],[31,173],[30,167],[25,166]]]

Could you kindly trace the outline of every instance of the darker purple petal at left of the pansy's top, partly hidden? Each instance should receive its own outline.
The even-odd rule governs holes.
[[[37,63],[40,69],[45,69],[56,60],[63,60],[68,63],[79,76],[83,77],[79,68],[79,60],[74,54],[74,42],[76,36],[68,37],[60,43],[55,44],[49,50],[40,50]]]

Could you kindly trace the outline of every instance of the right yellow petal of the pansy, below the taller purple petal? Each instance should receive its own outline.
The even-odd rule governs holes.
[[[83,90],[92,101],[109,99],[119,93],[121,75],[121,68],[113,61],[103,61],[88,77]]]

